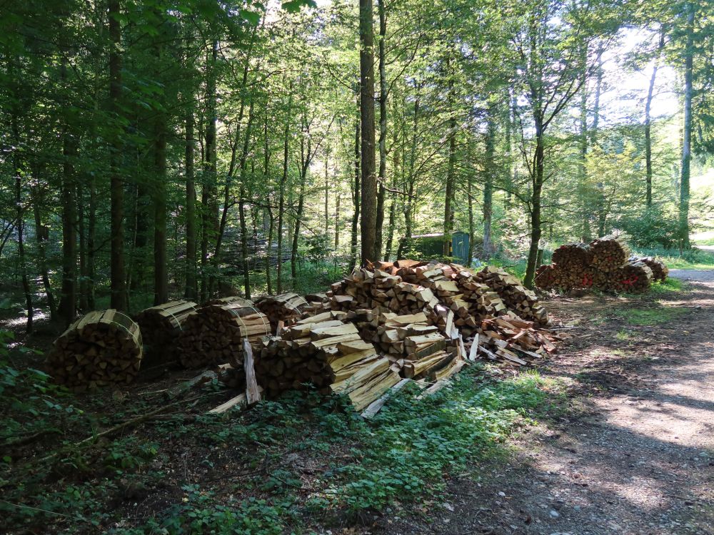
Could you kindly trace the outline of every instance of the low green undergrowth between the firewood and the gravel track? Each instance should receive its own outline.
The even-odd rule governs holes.
[[[370,421],[345,399],[291,393],[249,411],[174,413],[83,447],[60,439],[46,462],[14,450],[0,461],[0,531],[308,533],[399,509],[505,454],[514,429],[560,403],[537,372],[488,377],[473,365],[423,399],[408,385]]]

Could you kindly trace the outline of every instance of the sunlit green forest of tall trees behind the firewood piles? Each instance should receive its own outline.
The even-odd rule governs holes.
[[[372,4],[6,4],[0,272],[28,329],[310,290],[430,234],[528,287],[560,243],[708,236],[710,4]]]

